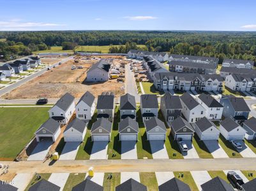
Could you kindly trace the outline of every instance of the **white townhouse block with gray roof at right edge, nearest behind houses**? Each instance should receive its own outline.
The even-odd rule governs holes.
[[[230,74],[225,78],[225,87],[234,92],[255,92],[256,76],[250,74]]]

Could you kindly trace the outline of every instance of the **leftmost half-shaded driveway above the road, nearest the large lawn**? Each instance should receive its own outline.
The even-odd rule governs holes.
[[[52,141],[40,141],[27,160],[44,160],[52,146]]]

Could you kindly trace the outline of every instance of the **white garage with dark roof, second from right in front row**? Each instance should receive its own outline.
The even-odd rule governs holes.
[[[245,138],[246,131],[229,117],[220,122],[220,133],[227,141],[232,141],[243,140]]]

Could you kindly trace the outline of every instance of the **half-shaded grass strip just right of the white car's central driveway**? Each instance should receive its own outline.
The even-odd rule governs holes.
[[[204,145],[203,141],[200,141],[197,134],[193,137],[193,146],[195,147],[195,150],[197,151],[198,155],[202,159],[213,159],[213,155],[209,153],[209,150],[207,149],[206,145]]]

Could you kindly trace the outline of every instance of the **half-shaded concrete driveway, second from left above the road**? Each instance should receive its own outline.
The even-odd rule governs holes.
[[[75,160],[81,142],[67,142],[59,156],[59,160]]]

